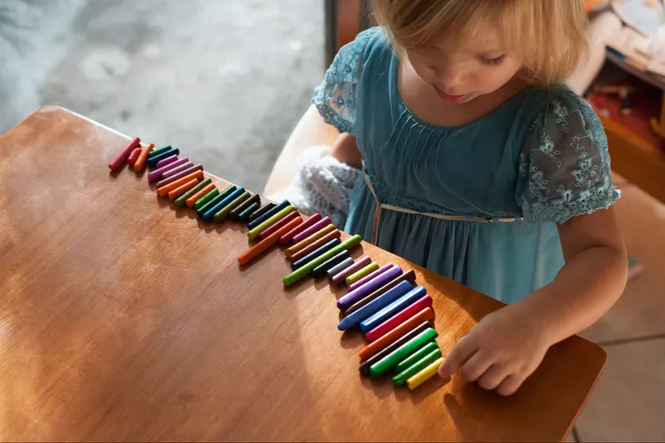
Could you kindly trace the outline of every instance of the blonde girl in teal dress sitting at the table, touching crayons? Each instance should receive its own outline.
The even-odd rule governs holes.
[[[583,4],[373,8],[380,27],[340,50],[313,99],[343,136],[307,160],[287,197],[348,212],[347,232],[507,303],[440,374],[512,394],[626,282],[606,136],[562,83],[588,47]]]

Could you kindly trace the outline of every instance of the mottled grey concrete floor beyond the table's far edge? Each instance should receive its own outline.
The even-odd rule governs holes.
[[[180,147],[251,190],[323,79],[323,2],[0,0],[0,27],[17,6],[15,20],[38,14],[20,69],[38,104]],[[31,84],[17,84],[13,97],[34,103]]]

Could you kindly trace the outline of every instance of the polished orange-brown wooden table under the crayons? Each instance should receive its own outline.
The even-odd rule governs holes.
[[[109,174],[127,141],[56,106],[0,138],[0,439],[565,438],[605,365],[598,346],[552,347],[509,398],[458,376],[415,392],[362,378],[363,338],[336,329],[341,292],[286,290],[278,251],[239,269],[244,226],[176,210],[127,167]],[[500,307],[363,249],[417,269],[444,355]]]

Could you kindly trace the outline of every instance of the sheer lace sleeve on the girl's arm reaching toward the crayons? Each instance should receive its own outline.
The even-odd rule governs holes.
[[[572,94],[552,100],[531,125],[520,156],[516,198],[525,221],[564,223],[619,197],[605,132],[591,105]]]

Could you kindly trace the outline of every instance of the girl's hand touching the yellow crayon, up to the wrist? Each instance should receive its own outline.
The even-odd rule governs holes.
[[[542,324],[519,305],[503,307],[484,317],[461,338],[439,369],[443,378],[461,369],[468,382],[511,395],[543,361],[552,343]]]

